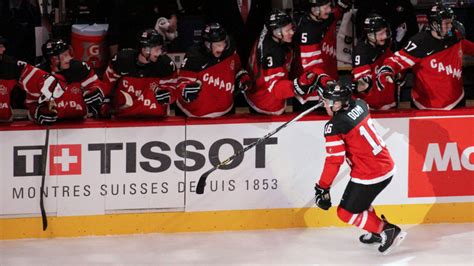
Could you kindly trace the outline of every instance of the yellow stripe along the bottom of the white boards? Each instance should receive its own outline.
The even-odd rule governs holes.
[[[474,203],[376,206],[396,224],[474,222]],[[0,239],[78,237],[203,231],[259,230],[345,226],[336,208],[269,209],[216,212],[166,212],[49,217],[43,232],[41,218],[0,219]]]

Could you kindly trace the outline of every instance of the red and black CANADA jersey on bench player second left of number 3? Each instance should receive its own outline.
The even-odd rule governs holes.
[[[156,62],[138,63],[138,51],[120,51],[104,75],[106,95],[114,99],[117,117],[161,117],[168,115],[169,105],[159,104],[157,90],[171,92],[171,102],[176,100],[177,71],[168,55],[161,55]]]

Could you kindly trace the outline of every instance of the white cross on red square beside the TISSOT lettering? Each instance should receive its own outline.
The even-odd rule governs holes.
[[[64,144],[49,146],[50,175],[80,175],[81,145]]]

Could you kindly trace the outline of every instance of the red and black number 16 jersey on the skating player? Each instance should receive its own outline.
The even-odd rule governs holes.
[[[324,127],[326,161],[319,185],[329,188],[344,158],[351,167],[351,181],[377,184],[395,173],[395,164],[377,134],[367,103],[351,101],[347,110],[336,112]]]

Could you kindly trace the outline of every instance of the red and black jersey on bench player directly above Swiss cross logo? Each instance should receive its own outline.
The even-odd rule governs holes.
[[[40,69],[51,72],[48,63],[38,66]],[[61,84],[64,93],[55,99],[58,118],[81,118],[87,114],[87,106],[83,95],[97,89],[103,92],[103,83],[99,80],[89,65],[78,60],[71,60],[70,67],[65,70],[51,73]]]

